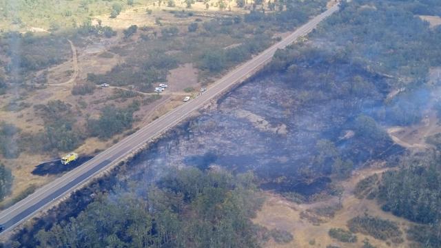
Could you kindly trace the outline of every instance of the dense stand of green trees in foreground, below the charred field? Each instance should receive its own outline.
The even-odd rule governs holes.
[[[174,169],[147,187],[114,187],[27,245],[258,247],[249,218],[262,201],[252,181],[252,174]]]

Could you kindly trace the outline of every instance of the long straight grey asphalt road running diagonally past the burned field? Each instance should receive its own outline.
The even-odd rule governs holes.
[[[158,134],[161,134],[168,128],[173,127],[184,118],[189,116],[189,114],[203,107],[203,105],[207,104],[216,95],[225,92],[225,90],[228,90],[235,83],[240,82],[246,76],[254,73],[257,68],[271,60],[276,50],[279,48],[285,48],[285,46],[294,42],[296,39],[298,39],[298,37],[301,37],[302,35],[305,35],[313,30],[316,25],[320,23],[320,21],[326,17],[329,17],[329,15],[336,12],[336,10],[338,10],[338,6],[329,8],[329,10],[323,12],[317,17],[314,17],[308,23],[298,28],[295,32],[289,34],[289,36],[282,41],[272,45],[259,55],[254,56],[254,58],[247,63],[240,65],[238,68],[236,68],[236,70],[233,70],[232,72],[229,72],[227,75],[223,76],[222,79],[214,83],[214,85],[212,85],[212,87],[210,87],[206,92],[201,94],[201,96],[198,96],[196,99],[192,99],[189,102],[176,107],[174,110],[171,110],[167,114],[161,116],[161,118],[158,118],[156,121],[146,125],[138,132],[132,134],[131,136],[127,136],[121,142],[116,143],[114,146],[110,147],[104,152],[101,152],[90,161],[76,167],[71,172],[68,172],[60,178],[57,178],[57,180],[44,185],[40,189],[37,189],[34,194],[31,194],[8,209],[1,211],[0,223],[6,227],[2,234],[5,234],[7,231],[12,230],[23,221],[31,218],[34,216],[34,214],[37,214],[38,211],[47,207],[53,200],[57,200],[58,198],[73,192],[74,189],[79,187],[79,185],[82,185],[103,169],[106,169],[108,166],[114,163],[118,163],[124,156],[143,145],[146,141],[149,141]]]

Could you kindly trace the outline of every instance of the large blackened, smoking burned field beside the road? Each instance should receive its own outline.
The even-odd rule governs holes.
[[[351,68],[318,63],[296,74],[256,76],[220,99],[216,109],[159,141],[145,152],[142,164],[160,171],[169,166],[219,166],[234,173],[251,170],[265,189],[316,194],[326,189],[329,176],[350,173],[370,159],[403,151],[374,118],[364,115],[382,106],[387,79]],[[331,83],[322,81],[322,73],[336,82],[335,87],[324,88]],[[354,74],[373,90],[369,95],[342,97]],[[347,166],[340,168],[345,172],[338,172],[336,160]],[[133,173],[143,178],[142,169]],[[306,190],[312,185],[320,187]]]

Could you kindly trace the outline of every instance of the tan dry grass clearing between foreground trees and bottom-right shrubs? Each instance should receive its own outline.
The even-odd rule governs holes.
[[[358,199],[353,196],[353,188],[356,183],[370,176],[374,173],[384,172],[383,168],[369,168],[362,169],[356,172],[349,180],[342,182],[342,187],[345,189],[345,193],[342,198],[342,209],[336,211],[334,217],[323,217],[316,215],[315,217],[324,220],[324,223],[320,225],[311,223],[306,218],[301,218],[301,213],[307,210],[315,209],[317,207],[332,206],[338,203],[338,199],[331,198],[313,204],[296,204],[285,200],[278,194],[265,193],[267,200],[263,206],[263,209],[258,211],[254,223],[258,223],[267,227],[268,229],[278,228],[281,230],[289,231],[294,236],[294,240],[286,245],[280,245],[272,240],[266,244],[266,247],[326,247],[327,245],[338,245],[339,247],[361,247],[362,240],[369,238],[369,242],[376,247],[408,247],[409,244],[404,242],[400,245],[392,244],[386,245],[382,240],[376,240],[370,236],[357,234],[358,242],[356,243],[342,243],[337,240],[333,240],[328,235],[329,229],[332,227],[347,229],[347,220],[353,217],[361,215],[365,212],[372,216],[378,216],[380,218],[388,219],[399,223],[402,231],[409,225],[409,221],[403,218],[398,218],[392,214],[386,213],[380,209],[374,200]],[[314,216],[314,211],[308,211],[309,215]],[[309,241],[315,240],[315,245],[310,245]]]

